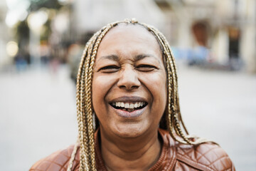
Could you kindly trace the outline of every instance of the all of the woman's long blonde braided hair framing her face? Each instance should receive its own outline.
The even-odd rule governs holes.
[[[165,113],[161,118],[160,128],[168,130],[174,140],[184,144],[197,145],[207,141],[200,138],[191,140],[191,138],[189,138],[188,131],[183,124],[178,103],[176,63],[174,61],[174,56],[171,52],[169,43],[166,41],[164,35],[153,26],[139,23],[135,19],[116,21],[112,24],[107,24],[107,26],[101,28],[100,31],[97,31],[97,33],[90,38],[90,41],[88,41],[85,46],[85,50],[83,51],[80,61],[77,77],[77,115],[80,142],[80,171],[96,171],[94,133],[97,129],[98,123],[95,123],[96,127],[94,128],[94,123],[92,121],[92,71],[97,50],[100,46],[102,38],[108,31],[110,31],[111,28],[118,26],[119,24],[134,24],[143,26],[155,36],[156,40],[159,42],[161,50],[163,51],[163,58],[167,73],[168,99]],[[183,130],[185,130],[186,135],[183,133],[181,127]],[[71,167],[73,166],[74,157],[75,155],[73,155],[73,157],[70,159],[68,170],[71,170]]]

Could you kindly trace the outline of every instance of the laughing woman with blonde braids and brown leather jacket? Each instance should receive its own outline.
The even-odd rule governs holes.
[[[188,136],[177,88],[174,56],[156,28],[134,19],[108,24],[80,62],[79,142],[31,171],[235,170],[214,142]]]

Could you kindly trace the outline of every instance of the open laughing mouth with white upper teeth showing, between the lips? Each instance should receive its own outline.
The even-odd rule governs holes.
[[[113,102],[113,103],[110,103],[110,105],[115,109],[124,110],[129,113],[132,113],[134,110],[139,110],[139,109],[145,108],[147,103],[146,102],[134,102],[134,103]]]

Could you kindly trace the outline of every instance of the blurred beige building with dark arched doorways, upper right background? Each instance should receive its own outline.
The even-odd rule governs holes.
[[[166,15],[165,33],[172,46],[206,47],[211,61],[233,67],[243,63],[256,72],[255,0],[155,1]]]

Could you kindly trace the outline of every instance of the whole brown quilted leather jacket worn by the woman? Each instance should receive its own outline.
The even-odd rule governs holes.
[[[180,170],[221,170],[235,171],[235,167],[230,160],[230,157],[218,145],[208,142],[201,145],[183,145],[171,138],[166,130],[159,129],[161,138],[163,139],[163,146],[161,155],[156,164],[151,167],[149,171],[180,171]],[[96,138],[96,163],[98,171],[107,171],[104,160],[100,153],[99,143]],[[73,152],[74,145],[54,152],[42,160],[34,164],[30,171],[64,171],[68,168],[71,153]],[[73,170],[79,170],[79,147],[78,152],[73,162]]]

